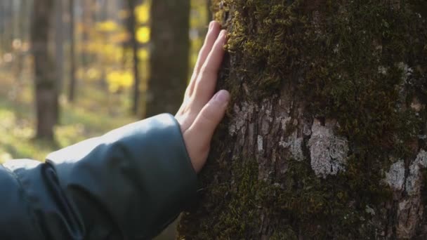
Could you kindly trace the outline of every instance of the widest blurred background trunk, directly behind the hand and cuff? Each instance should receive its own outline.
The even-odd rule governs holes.
[[[146,116],[175,114],[188,81],[190,0],[152,1]]]

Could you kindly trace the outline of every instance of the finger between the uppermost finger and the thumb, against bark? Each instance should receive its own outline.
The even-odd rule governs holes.
[[[226,34],[227,32],[225,30],[221,31],[215,41],[215,44],[213,44],[211,52],[204,62],[199,76],[197,76],[194,95],[195,102],[197,104],[196,107],[199,107],[199,109],[201,109],[206,104],[206,102],[209,101],[213,95],[213,92],[215,91],[218,71],[221,67],[221,63],[223,62],[223,46],[225,44]]]

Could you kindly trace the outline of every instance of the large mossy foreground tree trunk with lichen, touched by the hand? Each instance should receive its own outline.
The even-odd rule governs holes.
[[[425,1],[213,1],[232,93],[185,239],[426,239]]]

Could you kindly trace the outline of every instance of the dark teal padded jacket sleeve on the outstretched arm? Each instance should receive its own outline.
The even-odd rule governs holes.
[[[150,239],[196,189],[180,127],[162,114],[0,166],[0,239]]]

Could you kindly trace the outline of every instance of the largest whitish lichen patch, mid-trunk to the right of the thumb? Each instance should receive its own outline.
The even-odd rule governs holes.
[[[311,129],[312,135],[308,141],[311,168],[322,178],[346,171],[348,141],[334,135],[335,124],[335,121],[327,119],[322,126],[321,122],[315,119]]]

